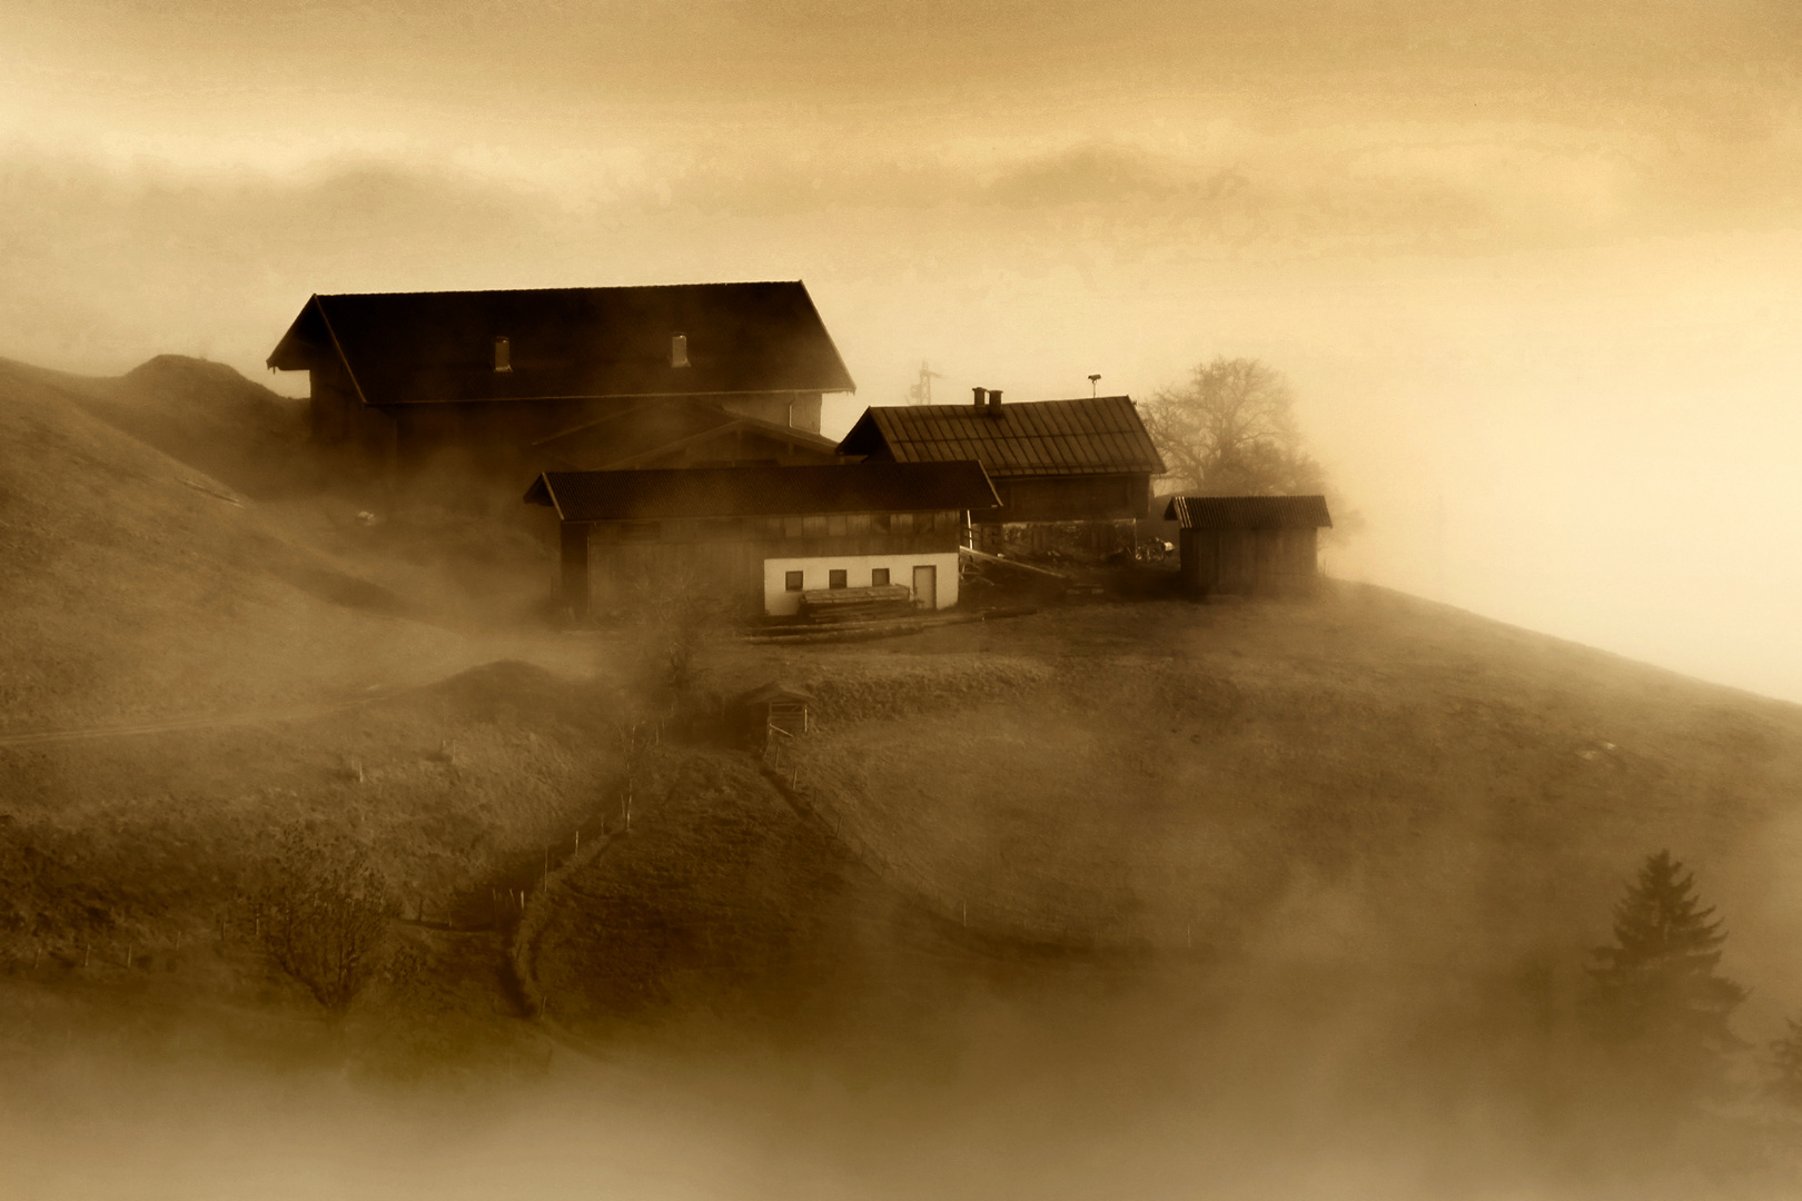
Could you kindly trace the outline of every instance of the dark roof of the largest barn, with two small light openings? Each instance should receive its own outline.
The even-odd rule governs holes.
[[[499,337],[512,371],[494,369]],[[268,366],[332,358],[371,405],[856,391],[800,281],[315,295]]]

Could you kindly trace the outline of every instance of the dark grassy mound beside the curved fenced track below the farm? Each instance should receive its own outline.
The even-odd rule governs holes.
[[[933,913],[746,754],[667,754],[622,819],[553,882],[530,947],[546,1012],[591,1043],[753,1035],[919,1068],[973,990],[1110,967]]]

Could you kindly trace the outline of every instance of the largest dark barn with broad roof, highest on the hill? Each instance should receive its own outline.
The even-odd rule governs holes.
[[[701,461],[782,461],[757,438],[741,456],[751,427],[721,427],[818,434],[822,394],[856,389],[798,281],[314,295],[268,366],[310,373],[319,443],[387,470],[452,459],[514,481],[605,457],[605,438],[643,457],[661,405],[690,418],[672,441]],[[706,430],[699,443],[730,447],[706,452]],[[820,443],[805,448],[825,456]]]

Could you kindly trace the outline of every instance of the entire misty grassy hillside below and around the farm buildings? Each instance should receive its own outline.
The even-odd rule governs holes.
[[[333,475],[229,369],[4,389],[27,1196],[1795,1181],[1762,1091],[1802,1007],[1793,704],[1342,582],[715,630],[672,693],[654,621],[553,630],[533,533]],[[717,722],[768,681],[816,699],[775,760]],[[342,1012],[261,933],[296,846],[387,889]],[[1584,1025],[1667,846],[1752,989],[1732,1104]]]

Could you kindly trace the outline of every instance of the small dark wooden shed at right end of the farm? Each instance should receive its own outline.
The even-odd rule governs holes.
[[[1184,589],[1296,592],[1319,573],[1319,531],[1333,524],[1326,497],[1171,497]]]

